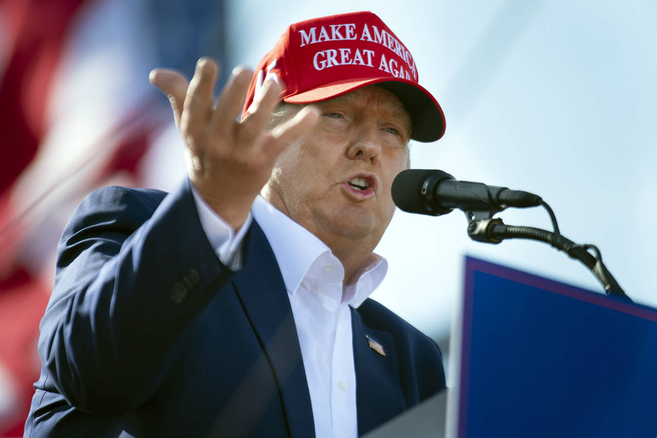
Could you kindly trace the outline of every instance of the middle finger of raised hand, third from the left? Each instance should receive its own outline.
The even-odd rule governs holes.
[[[248,91],[252,74],[247,68],[242,66],[235,67],[227,84],[221,90],[212,117],[215,130],[220,134],[227,134],[229,129],[235,125],[237,117],[242,112],[244,96],[246,95],[246,91]]]

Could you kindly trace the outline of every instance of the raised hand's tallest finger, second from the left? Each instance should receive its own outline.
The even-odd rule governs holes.
[[[212,90],[217,71],[217,64],[212,59],[201,58],[196,63],[194,77],[189,82],[181,115],[181,132],[185,137],[202,132],[212,114]],[[188,141],[188,144],[193,146],[191,143]]]

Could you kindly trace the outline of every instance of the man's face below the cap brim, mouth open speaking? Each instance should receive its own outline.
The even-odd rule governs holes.
[[[319,122],[277,160],[269,202],[331,247],[353,239],[372,249],[390,223],[390,186],[407,167],[410,116],[381,87],[315,104]]]

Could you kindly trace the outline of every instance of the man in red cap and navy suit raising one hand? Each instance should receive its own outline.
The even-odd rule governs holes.
[[[101,189],[66,226],[26,435],[355,437],[445,386],[367,299],[407,143],[444,132],[410,53],[357,12],[293,24],[213,107],[216,74],[151,75],[189,180]]]

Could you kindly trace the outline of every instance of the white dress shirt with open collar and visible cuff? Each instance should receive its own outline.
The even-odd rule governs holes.
[[[258,196],[247,222],[234,233],[194,191],[202,227],[221,262],[237,269],[240,243],[252,217],[267,236],[288,291],[317,438],[357,437],[356,377],[351,313],[383,281],[386,260],[372,254],[358,280],[343,286],[344,268],[315,235]]]

